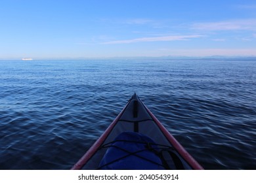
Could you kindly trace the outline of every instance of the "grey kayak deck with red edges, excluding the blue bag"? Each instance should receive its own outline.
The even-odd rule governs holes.
[[[110,124],[87,153],[75,163],[72,169],[98,169],[100,161],[108,150],[108,148],[103,147],[106,144],[111,144],[123,132],[140,133],[150,137],[158,146],[168,147],[167,153],[162,154],[161,158],[165,164],[167,163],[165,169],[203,169],[148,110],[136,93],[114,122]]]

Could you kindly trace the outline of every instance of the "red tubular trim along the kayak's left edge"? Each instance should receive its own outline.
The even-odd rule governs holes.
[[[129,103],[130,101],[127,103],[127,105]],[[98,138],[98,140],[93,144],[93,146],[89,148],[89,150],[85,153],[85,155],[83,155],[83,157],[80,158],[79,161],[77,161],[77,163],[75,163],[75,165],[72,167],[72,170],[81,169],[85,165],[85,163],[87,163],[87,161],[89,161],[89,159],[95,154],[95,152],[98,150],[101,144],[106,140],[106,138],[108,137],[108,135],[110,134],[110,132],[112,131],[116,123],[118,122],[119,118],[123,114],[127,105],[125,105],[125,107],[123,108],[123,110],[121,110],[121,112],[118,114],[116,119],[108,126],[106,131],[104,131],[104,133],[100,136],[100,138]]]

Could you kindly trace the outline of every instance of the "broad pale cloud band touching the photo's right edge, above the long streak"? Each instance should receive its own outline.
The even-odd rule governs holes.
[[[228,20],[222,22],[202,22],[192,25],[192,29],[205,31],[256,30],[256,19]]]

